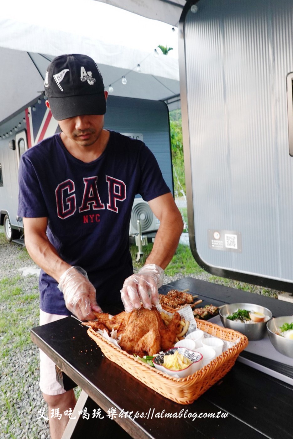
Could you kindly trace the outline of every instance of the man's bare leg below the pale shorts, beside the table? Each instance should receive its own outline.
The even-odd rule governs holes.
[[[69,410],[70,408],[73,410],[76,404],[74,391],[72,389],[68,392],[62,393],[61,395],[46,395],[45,393],[43,393],[43,398],[48,404],[48,417],[51,438],[61,439],[65,427],[69,421],[69,416],[65,416],[64,412],[66,410]],[[58,410],[58,413],[61,414],[60,419],[58,419],[58,417],[51,417],[52,410],[53,414],[55,414],[56,409]]]

